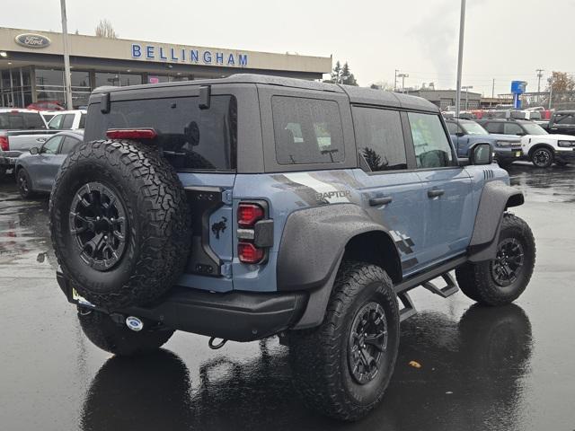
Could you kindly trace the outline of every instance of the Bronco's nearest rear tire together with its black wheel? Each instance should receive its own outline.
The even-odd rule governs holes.
[[[398,348],[392,280],[375,265],[344,262],[322,325],[289,334],[296,390],[329,417],[361,418],[382,400]]]

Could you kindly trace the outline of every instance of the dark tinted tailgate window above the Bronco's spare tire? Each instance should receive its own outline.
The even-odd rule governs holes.
[[[179,171],[234,171],[237,103],[234,96],[212,96],[208,110],[197,97],[114,101],[102,114],[88,108],[84,141],[102,139],[109,128],[154,128],[164,156]]]

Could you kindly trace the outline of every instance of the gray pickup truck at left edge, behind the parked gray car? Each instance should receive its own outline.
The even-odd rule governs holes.
[[[0,108],[0,177],[12,171],[16,159],[40,146],[58,130],[48,130],[37,110]]]

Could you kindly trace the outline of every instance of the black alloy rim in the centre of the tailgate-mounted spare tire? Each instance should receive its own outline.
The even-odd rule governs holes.
[[[72,200],[69,229],[80,257],[90,267],[105,271],[121,259],[128,222],[118,195],[101,182],[84,184]]]

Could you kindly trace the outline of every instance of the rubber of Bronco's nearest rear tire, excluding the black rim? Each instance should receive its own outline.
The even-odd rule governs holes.
[[[385,311],[388,339],[382,367],[368,383],[359,384],[349,366],[349,336],[358,311],[376,302]],[[392,280],[382,268],[344,262],[336,277],[321,326],[288,334],[296,391],[326,416],[356,420],[384,396],[399,348],[399,309]]]

